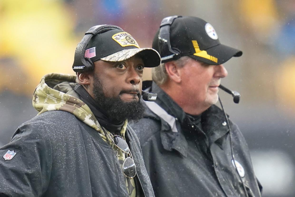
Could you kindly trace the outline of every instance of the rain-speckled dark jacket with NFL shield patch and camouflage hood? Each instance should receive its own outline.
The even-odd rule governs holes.
[[[65,81],[70,86],[64,92],[53,89]],[[42,78],[33,96],[39,115],[19,126],[12,141],[0,149],[0,196],[129,196],[114,149],[89,107],[73,96],[74,82],[70,75]],[[154,196],[137,136],[129,126],[125,138],[142,191]]]

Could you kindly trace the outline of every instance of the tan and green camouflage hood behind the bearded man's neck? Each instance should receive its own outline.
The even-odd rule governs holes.
[[[106,140],[94,114],[74,91],[76,85],[74,75],[50,73],[43,76],[33,93],[34,108],[39,111],[38,115],[52,110],[67,111],[94,128]]]

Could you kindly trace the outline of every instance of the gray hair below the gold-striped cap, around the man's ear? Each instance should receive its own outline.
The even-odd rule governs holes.
[[[189,59],[189,56],[183,56],[178,60],[174,60],[174,64],[176,64],[179,68],[182,68]],[[165,84],[168,79],[165,63],[161,63],[160,66],[152,68],[152,79],[157,85]]]

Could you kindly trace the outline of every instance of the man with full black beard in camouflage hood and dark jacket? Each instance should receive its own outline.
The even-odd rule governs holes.
[[[159,54],[112,25],[78,44],[76,76],[47,74],[35,89],[39,114],[0,149],[0,196],[154,196],[127,121],[144,114],[143,68]]]

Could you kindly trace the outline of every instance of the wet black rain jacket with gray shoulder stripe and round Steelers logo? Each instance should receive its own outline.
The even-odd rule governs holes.
[[[156,84],[149,91],[158,93],[157,101],[146,102],[145,117],[132,128],[140,139],[155,196],[246,196],[239,174],[249,197],[261,195],[248,145],[230,121],[239,174],[235,170],[222,110],[212,105],[202,113],[201,129]]]

